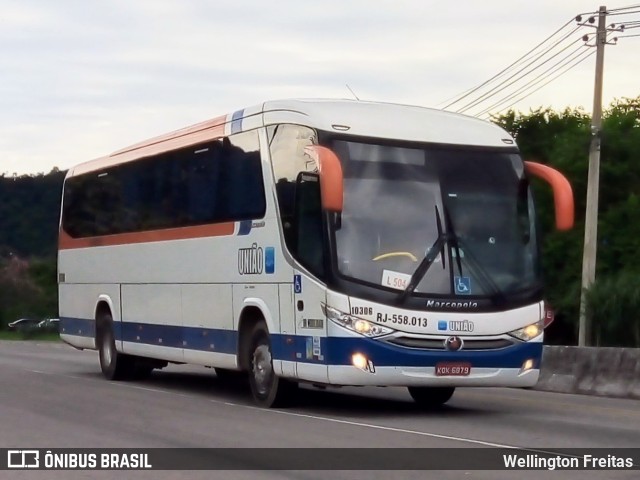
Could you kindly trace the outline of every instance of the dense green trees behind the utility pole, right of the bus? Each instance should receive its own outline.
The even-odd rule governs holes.
[[[550,189],[534,180],[534,192],[543,231],[546,297],[558,311],[557,322],[550,333],[553,334],[554,328],[565,327],[564,335],[556,338],[551,335],[551,340],[573,343],[580,303],[591,119],[582,110],[538,109],[528,114],[509,111],[493,120],[516,138],[525,159],[548,164],[571,182],[576,225],[568,233],[553,230]],[[603,115],[596,275],[607,285],[620,286],[621,281],[616,280],[619,277],[632,282],[629,288],[640,290],[637,275],[640,272],[639,195],[640,97],[616,100]],[[607,288],[606,291],[611,291],[613,287]],[[631,297],[619,298],[623,301]],[[597,315],[604,314],[598,311]],[[606,320],[598,318],[597,321],[601,324]],[[606,343],[607,332],[612,331],[601,329],[599,341]],[[611,340],[615,343],[613,337]]]

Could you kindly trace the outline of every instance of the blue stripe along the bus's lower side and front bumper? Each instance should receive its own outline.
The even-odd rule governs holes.
[[[93,337],[95,321],[61,318],[60,331]],[[114,322],[117,340],[145,345],[237,354],[238,332],[212,328]],[[518,343],[501,350],[448,352],[403,348],[369,338],[320,337],[320,352],[314,352],[313,337],[273,334],[273,358],[323,365],[351,365],[351,356],[366,355],[376,366],[430,367],[441,361],[466,361],[478,368],[520,368],[527,359],[539,363],[542,343]]]

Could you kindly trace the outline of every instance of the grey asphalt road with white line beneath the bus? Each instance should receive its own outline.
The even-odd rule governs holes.
[[[640,447],[640,402],[516,389],[461,389],[421,411],[404,389],[304,390],[298,406],[254,407],[212,370],[170,366],[109,382],[96,352],[0,341],[0,447],[304,447],[522,449]],[[456,462],[464,450],[450,452]],[[321,466],[324,459],[319,456]],[[250,463],[249,463],[250,464]],[[637,479],[613,471],[9,472],[0,478]]]

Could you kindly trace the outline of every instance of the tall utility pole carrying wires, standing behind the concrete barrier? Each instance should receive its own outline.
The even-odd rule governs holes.
[[[598,11],[596,33],[596,78],[593,90],[593,114],[591,117],[591,145],[589,147],[589,176],[587,180],[587,209],[584,222],[584,251],[582,257],[582,289],[580,294],[580,325],[578,345],[586,346],[591,339],[590,322],[585,304],[585,289],[596,278],[596,254],[598,249],[598,194],[600,183],[600,131],[602,128],[602,75],[604,47],[607,44],[607,7]]]

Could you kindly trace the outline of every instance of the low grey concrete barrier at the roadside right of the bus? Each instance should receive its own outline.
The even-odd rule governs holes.
[[[640,399],[640,348],[545,346],[535,389]]]

